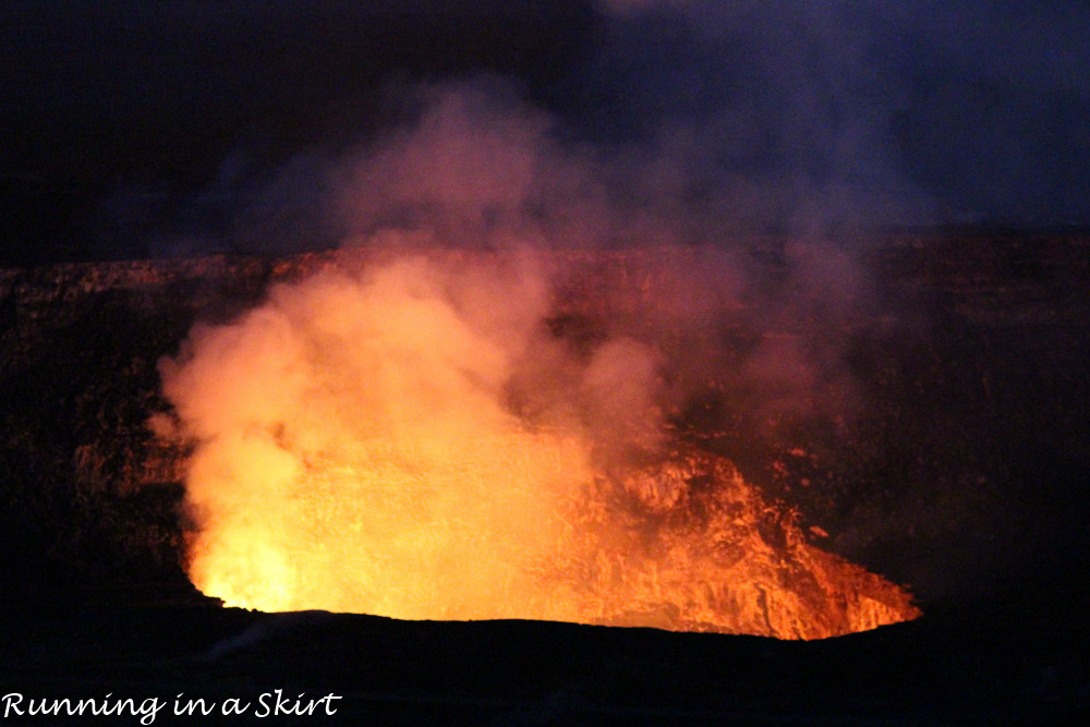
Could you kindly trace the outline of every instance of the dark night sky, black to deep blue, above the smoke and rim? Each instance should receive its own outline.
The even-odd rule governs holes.
[[[2,262],[215,238],[398,84],[484,71],[571,143],[685,136],[692,186],[775,198],[762,225],[1088,225],[1088,31],[1075,1],[8,0]]]

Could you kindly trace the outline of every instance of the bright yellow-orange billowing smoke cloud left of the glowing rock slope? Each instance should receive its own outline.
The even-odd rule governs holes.
[[[383,257],[275,287],[161,363],[157,424],[196,443],[191,574],[265,608],[574,618],[532,573],[595,446],[659,434],[654,352],[567,348],[528,254]]]

